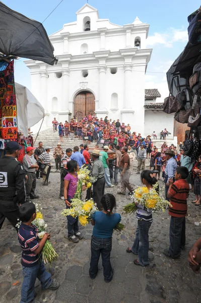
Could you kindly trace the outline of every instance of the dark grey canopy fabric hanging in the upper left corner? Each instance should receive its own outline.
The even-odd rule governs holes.
[[[0,52],[54,65],[54,48],[43,25],[0,2]]]

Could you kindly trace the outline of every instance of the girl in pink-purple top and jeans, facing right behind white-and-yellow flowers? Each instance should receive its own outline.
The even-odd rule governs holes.
[[[64,178],[64,201],[66,209],[71,208],[71,200],[77,190],[78,185],[78,175],[79,166],[77,161],[71,160],[67,163],[68,174]],[[78,218],[73,218],[72,216],[66,216],[68,221],[68,239],[72,242],[79,242],[79,239],[83,238],[82,233],[79,231]]]

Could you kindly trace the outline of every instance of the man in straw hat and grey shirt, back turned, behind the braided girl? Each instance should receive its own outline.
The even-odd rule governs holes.
[[[93,149],[92,160],[93,166],[91,174],[93,177],[97,178],[97,181],[93,184],[93,199],[97,204],[98,209],[101,209],[101,197],[104,195],[105,191],[105,169],[102,161],[99,159],[100,150]]]

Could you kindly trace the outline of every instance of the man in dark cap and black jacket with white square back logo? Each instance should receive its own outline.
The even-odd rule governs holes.
[[[25,170],[16,161],[20,149],[17,142],[10,141],[5,147],[5,156],[0,159],[0,229],[7,218],[18,230],[18,204],[26,201]]]

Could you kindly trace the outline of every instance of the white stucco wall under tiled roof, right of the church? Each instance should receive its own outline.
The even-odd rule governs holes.
[[[173,137],[174,114],[166,114],[163,111],[145,111],[145,135],[152,135],[155,131],[160,138],[160,132],[165,128]]]

